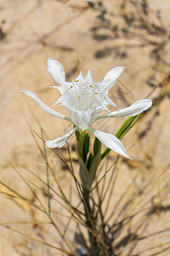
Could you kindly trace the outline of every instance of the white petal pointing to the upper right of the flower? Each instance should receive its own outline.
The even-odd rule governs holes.
[[[107,88],[111,88],[113,84],[116,83],[116,79],[122,74],[124,67],[114,67],[108,73],[106,73],[103,81],[110,79],[109,83],[107,83]]]

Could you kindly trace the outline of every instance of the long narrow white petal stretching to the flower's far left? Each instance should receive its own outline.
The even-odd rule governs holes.
[[[70,121],[70,122],[72,123],[72,121],[71,121],[70,118],[66,117],[65,115],[63,115],[63,114],[61,114],[61,113],[58,113],[58,112],[54,111],[54,109],[52,109],[52,108],[49,108],[49,107],[48,107],[45,103],[43,103],[43,102],[40,100],[40,98],[39,98],[34,92],[32,92],[31,90],[21,90],[21,91],[24,92],[27,96],[30,96],[34,101],[36,101],[36,102],[39,104],[39,106],[40,106],[45,112],[47,112],[47,113],[49,113],[49,114],[52,114],[52,115],[58,117],[59,119],[65,119],[65,120]]]

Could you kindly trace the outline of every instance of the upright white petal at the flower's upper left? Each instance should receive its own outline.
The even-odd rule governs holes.
[[[65,70],[59,61],[53,58],[48,59],[48,73],[50,73],[56,84],[61,85],[62,82],[65,82]]]

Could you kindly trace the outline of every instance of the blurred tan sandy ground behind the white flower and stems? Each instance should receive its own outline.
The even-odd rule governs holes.
[[[137,2],[141,6],[141,2]],[[170,3],[167,0],[149,1],[150,26],[146,24],[147,29],[140,26],[139,21],[133,26],[133,16],[138,16],[138,12],[128,1],[106,0],[102,3],[107,10],[103,22],[97,18],[103,9],[94,10],[81,0],[0,1],[0,179],[30,200],[33,200],[33,195],[14,168],[26,180],[46,189],[25,169],[28,168],[45,180],[36,165],[39,150],[31,131],[37,131],[39,135],[41,131],[34,115],[50,139],[64,134],[68,124],[44,113],[36,102],[21,94],[20,90],[33,90],[49,107],[53,105],[59,97],[59,92],[49,88],[54,82],[46,69],[48,57],[62,63],[68,80],[75,79],[80,70],[85,76],[88,69],[94,68],[95,82],[99,82],[112,67],[126,67],[120,81],[111,90],[111,96],[113,101],[117,102],[118,108],[145,97],[153,99],[154,106],[122,140],[126,148],[130,148],[128,153],[134,162],[121,160],[114,190],[115,197],[111,205],[114,206],[115,201],[122,195],[122,188],[130,185],[130,194],[127,195],[130,197],[139,189],[143,190],[145,183],[150,183],[150,186],[143,190],[144,194],[123,214],[128,215],[129,211],[137,211],[145,206],[153,207],[154,211],[144,217],[144,230],[139,228],[136,232],[142,236],[156,235],[138,241],[133,251],[130,251],[131,241],[129,244],[127,242],[117,246],[117,255],[157,255],[154,253],[158,252],[161,252],[160,255],[169,255]],[[121,9],[122,3],[127,4],[126,8]],[[160,14],[157,9],[161,11],[161,21],[156,18],[156,14]],[[127,14],[128,26],[122,19],[123,14]],[[110,20],[110,28],[107,20]],[[160,59],[156,53],[160,55]],[[56,108],[58,112],[66,114],[65,108]],[[116,133],[122,121],[123,119],[114,119],[99,125],[102,125],[102,131]],[[41,140],[38,137],[36,140],[42,148]],[[68,158],[65,148],[61,150],[61,154],[65,159]],[[74,151],[72,155],[76,158]],[[113,159],[115,155],[111,153]],[[63,171],[62,166],[59,168],[59,183],[68,192],[71,189],[70,176],[68,172]],[[51,184],[55,187],[53,178]],[[42,190],[33,185],[32,187],[45,204],[47,199]],[[20,236],[7,226],[4,227],[4,223],[9,222],[10,227],[27,236],[37,237],[54,246],[63,246],[49,225],[35,227],[33,224],[14,224],[14,221],[44,221],[46,218],[24,202],[13,197],[8,198],[9,190],[3,185],[0,190],[0,223],[3,224],[0,227],[0,254],[60,255],[55,249],[42,246],[41,243]],[[55,204],[54,209],[63,211],[62,207]],[[57,221],[60,216],[55,214],[54,218]],[[135,229],[139,219],[135,221],[125,230]],[[65,220],[61,220],[60,225],[62,229]],[[68,239],[73,243],[75,230],[72,227]],[[116,236],[116,244],[121,241],[125,234],[123,232],[118,238]],[[147,251],[149,247],[153,248]]]

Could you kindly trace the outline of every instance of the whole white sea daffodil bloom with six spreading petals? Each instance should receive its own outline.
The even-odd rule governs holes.
[[[122,108],[114,112],[109,111],[106,105],[110,104],[116,107],[116,104],[109,98],[108,91],[111,86],[116,83],[116,80],[121,75],[122,71],[123,67],[112,68],[106,73],[103,81],[98,84],[94,83],[94,72],[92,78],[90,71],[88,71],[85,79],[82,77],[82,73],[80,73],[77,79],[70,83],[65,81],[65,71],[59,61],[56,61],[53,58],[48,59],[48,73],[50,73],[54,82],[58,84],[58,86],[52,87],[59,90],[61,94],[54,105],[60,104],[68,108],[70,118],[49,108],[31,90],[22,90],[22,92],[35,100],[45,112],[60,119],[65,119],[74,125],[74,129],[69,131],[63,137],[58,137],[52,141],[48,140],[46,145],[49,148],[61,148],[77,130],[91,131],[101,143],[105,144],[106,147],[111,148],[118,154],[130,158],[121,141],[116,136],[95,130],[91,127],[91,125],[99,119],[134,116],[150,108],[152,102],[149,99],[144,99],[134,102],[130,107]],[[99,115],[102,109],[106,110],[108,113]]]

